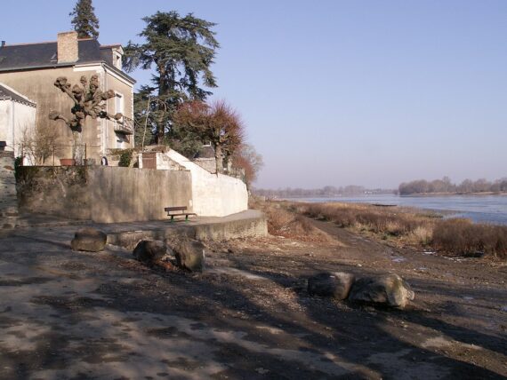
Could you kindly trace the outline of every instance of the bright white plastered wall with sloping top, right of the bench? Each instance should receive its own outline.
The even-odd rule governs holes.
[[[164,155],[186,170],[190,170],[192,176],[190,204],[193,212],[198,216],[225,217],[248,209],[248,192],[242,180],[222,174],[212,174],[173,149],[165,152]],[[161,169],[158,162],[161,162],[161,168],[167,168],[165,161],[158,160],[157,157],[157,169]]]

